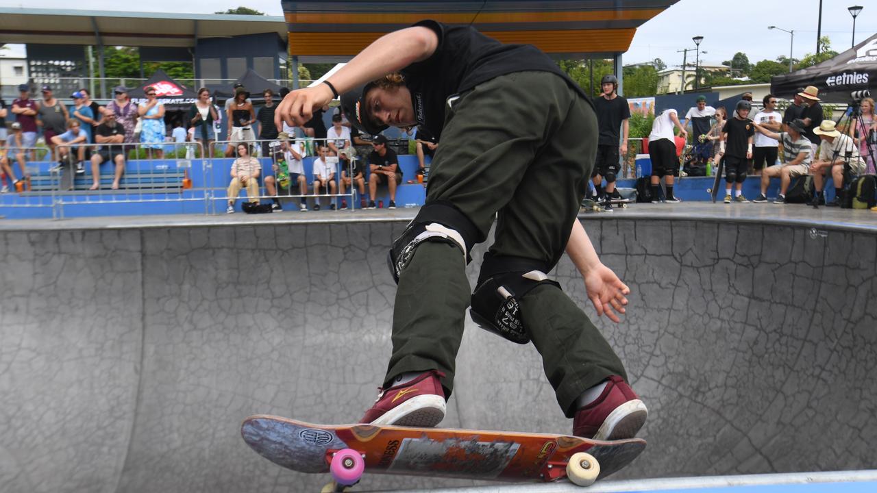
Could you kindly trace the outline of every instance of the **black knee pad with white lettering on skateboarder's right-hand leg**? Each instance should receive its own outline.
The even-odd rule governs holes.
[[[478,287],[472,293],[472,309],[469,315],[482,329],[493,332],[517,344],[527,344],[530,336],[521,318],[520,299],[539,284],[550,284],[560,289],[560,284],[550,281],[541,270],[515,270],[492,274],[492,267],[502,267],[505,259],[495,257],[496,261],[485,260],[479,275]],[[529,264],[529,265],[527,265]],[[488,270],[485,271],[484,267]],[[526,268],[538,266],[538,262],[524,259],[505,263],[507,268]]]

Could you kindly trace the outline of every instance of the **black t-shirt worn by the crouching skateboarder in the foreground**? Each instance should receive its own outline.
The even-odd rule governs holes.
[[[434,20],[415,25],[435,32],[439,45],[430,58],[403,68],[402,74],[417,123],[426,126],[437,139],[441,139],[445,124],[446,99],[499,75],[525,70],[551,72],[563,77],[590,103],[578,84],[535,46],[504,45],[468,25],[445,25]]]

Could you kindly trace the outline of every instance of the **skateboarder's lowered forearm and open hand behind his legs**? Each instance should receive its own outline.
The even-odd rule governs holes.
[[[624,313],[624,305],[627,304],[624,295],[630,294],[631,289],[618,279],[612,269],[602,264],[578,218],[574,220],[573,231],[569,233],[567,255],[585,281],[588,299],[594,304],[597,316],[605,313],[613,322],[620,322],[617,313]]]

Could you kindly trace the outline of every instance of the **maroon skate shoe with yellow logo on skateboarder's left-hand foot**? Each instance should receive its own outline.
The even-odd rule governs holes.
[[[445,391],[439,377],[445,374],[430,370],[410,381],[389,389],[379,389],[378,398],[360,423],[372,425],[438,425],[445,418]]]

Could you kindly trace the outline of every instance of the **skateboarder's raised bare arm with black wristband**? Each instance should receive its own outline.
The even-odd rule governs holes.
[[[332,85],[339,94],[424,61],[439,46],[439,36],[428,27],[415,26],[390,32],[376,39],[352,61],[332,75]],[[314,108],[332,101],[332,89],[327,84],[290,92],[277,106],[275,125],[304,125],[313,116]]]

